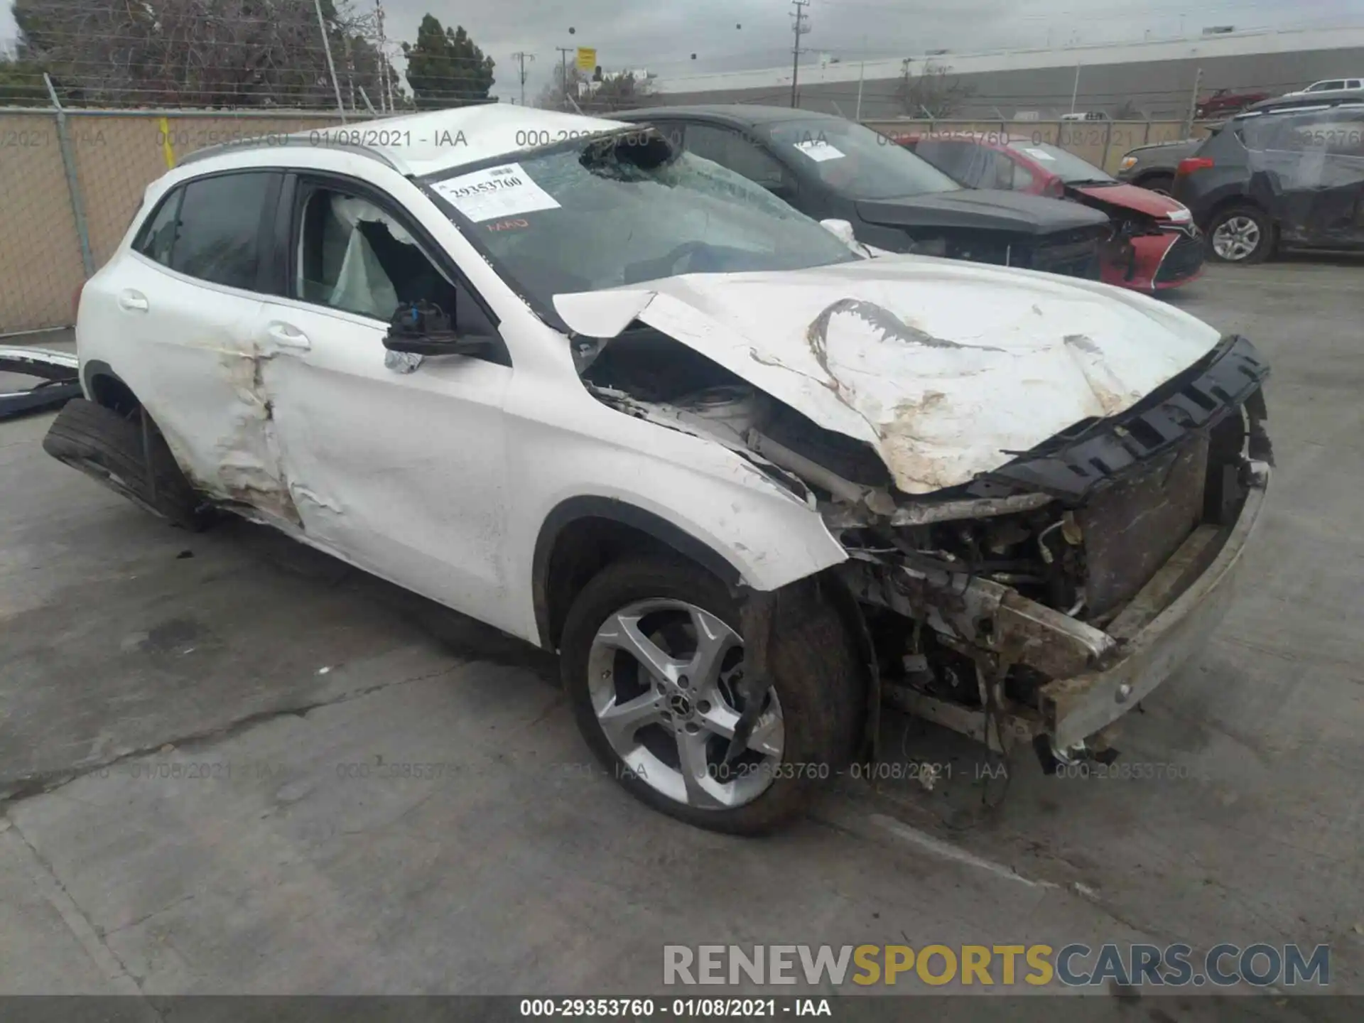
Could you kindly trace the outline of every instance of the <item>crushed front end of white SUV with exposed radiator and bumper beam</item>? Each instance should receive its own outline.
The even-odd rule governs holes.
[[[1127,412],[966,486],[832,502],[885,700],[1043,762],[1103,756],[1230,602],[1273,464],[1267,375],[1229,337]]]

